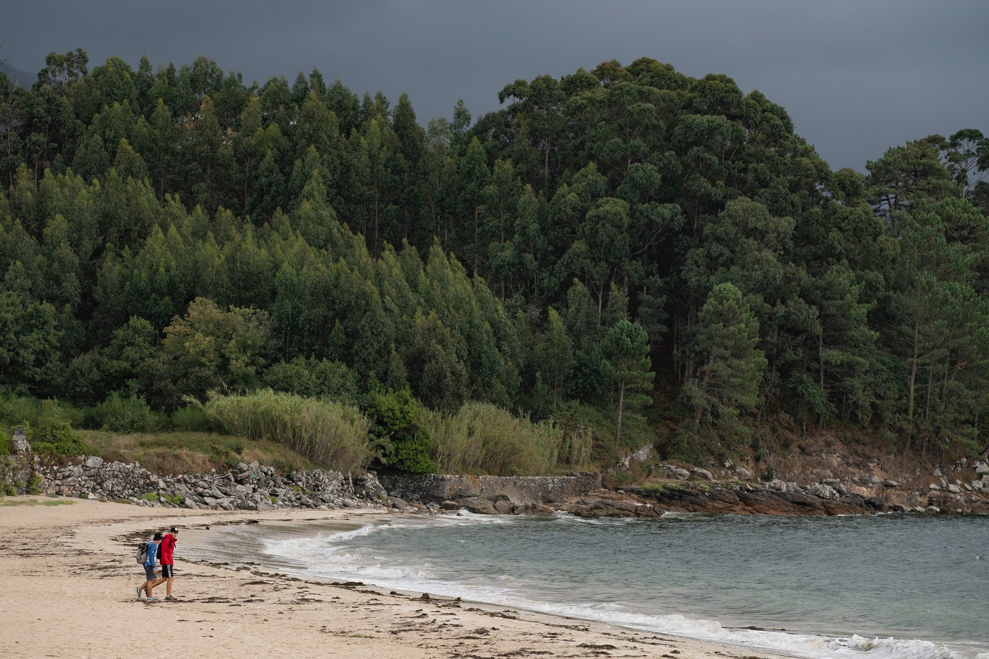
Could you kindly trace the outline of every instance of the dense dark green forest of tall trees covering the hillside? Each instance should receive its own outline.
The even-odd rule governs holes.
[[[497,97],[423,128],[316,69],[0,73],[0,388],[166,412],[405,392],[685,459],[779,428],[982,450],[979,131],[863,175],[760,92],[649,58]]]

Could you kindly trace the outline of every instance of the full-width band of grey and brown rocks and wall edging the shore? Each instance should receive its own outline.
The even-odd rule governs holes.
[[[601,487],[597,474],[553,477],[453,476],[438,474],[345,475],[331,470],[287,475],[256,461],[218,474],[165,478],[137,463],[80,456],[65,464],[24,453],[5,457],[4,494],[117,501],[152,508],[271,511],[382,507],[403,513],[467,510],[479,515],[554,515],[581,518],[657,518],[666,513],[835,516],[880,513],[989,514],[989,463],[957,463],[948,482],[940,470],[926,487],[903,488],[874,474],[859,480],[826,478],[806,485],[757,481],[736,467],[718,479],[708,470],[660,465],[662,478],[646,486]],[[745,478],[746,480],[741,480]],[[921,481],[923,483],[923,480]]]

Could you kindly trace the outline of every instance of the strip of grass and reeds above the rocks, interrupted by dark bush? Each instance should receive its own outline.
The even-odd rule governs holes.
[[[362,412],[330,400],[259,390],[214,395],[205,405],[165,415],[135,398],[115,396],[75,408],[53,400],[0,396],[0,453],[10,450],[12,428],[24,425],[36,452],[137,461],[162,475],[224,471],[252,460],[282,472],[309,467],[361,471],[378,465],[379,459],[392,464],[386,461],[388,447],[401,444],[405,425],[399,421],[405,418],[396,421],[399,408],[390,405],[393,398],[379,396],[374,400],[384,403],[366,405]],[[606,420],[574,415],[560,423],[533,423],[484,403],[468,403],[453,414],[420,409],[410,398],[408,403],[420,419],[416,436],[427,451],[423,455],[431,459],[429,469],[444,473],[569,473],[601,462],[600,446],[613,443],[584,424],[606,425]]]

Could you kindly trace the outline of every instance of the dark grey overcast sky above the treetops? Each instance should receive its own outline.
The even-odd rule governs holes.
[[[37,71],[51,50],[90,65],[199,54],[246,80],[315,65],[354,91],[411,98],[419,121],[498,107],[508,82],[649,56],[726,73],[784,106],[833,168],[961,128],[989,133],[989,2],[96,0],[7,2],[0,57]]]

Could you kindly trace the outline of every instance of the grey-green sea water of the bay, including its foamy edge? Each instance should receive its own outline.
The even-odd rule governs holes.
[[[989,659],[985,517],[465,513],[223,532],[215,556],[795,657]]]

